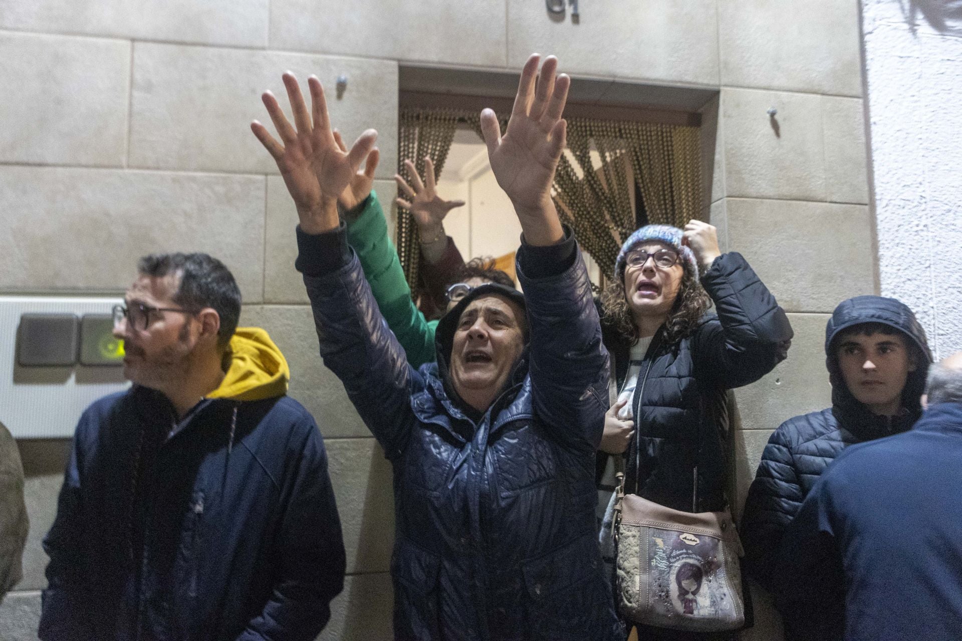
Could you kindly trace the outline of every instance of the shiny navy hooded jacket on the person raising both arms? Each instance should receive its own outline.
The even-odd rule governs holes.
[[[358,260],[311,267],[305,255],[323,250],[299,238],[321,355],[392,461],[394,638],[623,639],[595,539],[608,356],[580,255],[572,247],[561,273],[530,278],[522,246],[530,341],[472,419],[447,391],[446,363],[461,309],[494,285],[444,317],[439,362],[415,370]]]

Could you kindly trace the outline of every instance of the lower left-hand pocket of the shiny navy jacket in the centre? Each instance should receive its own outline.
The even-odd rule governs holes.
[[[394,582],[394,634],[418,641],[441,638],[441,557],[398,535],[391,559]]]

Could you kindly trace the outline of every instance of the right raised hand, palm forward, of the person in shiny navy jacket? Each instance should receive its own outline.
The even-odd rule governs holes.
[[[561,114],[570,78],[565,74],[555,78],[558,60],[548,56],[536,86],[539,61],[540,56],[533,54],[524,63],[504,136],[494,111],[488,109],[481,112],[481,131],[494,177],[515,206],[525,240],[546,245],[564,236],[551,202],[551,182],[565,149],[567,123]]]

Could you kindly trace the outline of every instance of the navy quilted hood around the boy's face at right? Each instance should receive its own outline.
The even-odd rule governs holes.
[[[829,381],[832,384],[832,408],[836,417],[854,431],[861,431],[863,438],[874,438],[886,435],[883,433],[865,433],[876,431],[873,426],[879,421],[859,403],[851,392],[842,371],[838,357],[835,356],[834,342],[838,335],[856,325],[865,323],[880,323],[898,330],[908,340],[915,357],[920,361],[914,372],[909,372],[902,389],[902,407],[908,410],[908,415],[900,417],[899,425],[893,424],[889,432],[905,431],[918,420],[922,413],[922,394],[925,389],[925,376],[928,365],[932,362],[932,353],[928,349],[925,331],[919,320],[908,306],[894,299],[883,296],[856,296],[839,304],[832,317],[825,326],[825,366],[828,368]],[[897,417],[899,418],[899,417]]]

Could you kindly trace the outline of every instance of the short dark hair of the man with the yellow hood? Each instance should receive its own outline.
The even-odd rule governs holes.
[[[176,274],[174,303],[190,311],[213,308],[220,316],[217,345],[230,342],[241,318],[241,288],[224,263],[207,254],[151,254],[139,259],[137,269],[154,278]]]

